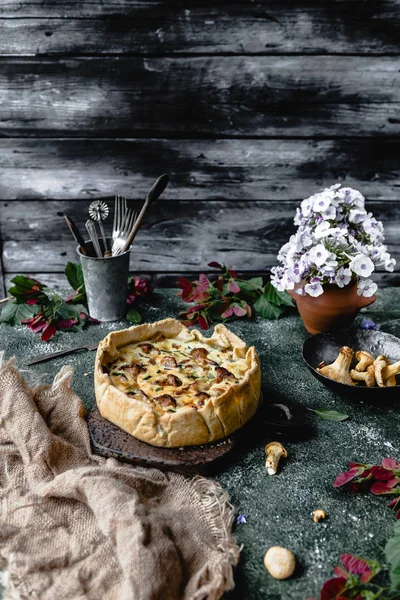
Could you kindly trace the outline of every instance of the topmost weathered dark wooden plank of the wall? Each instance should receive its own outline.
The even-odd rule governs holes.
[[[8,54],[384,54],[398,53],[400,35],[397,0],[2,0],[0,17]]]

